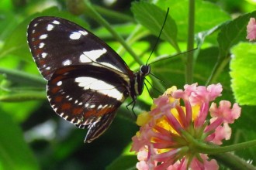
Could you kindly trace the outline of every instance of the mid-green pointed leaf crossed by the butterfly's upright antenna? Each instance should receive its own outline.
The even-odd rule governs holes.
[[[149,29],[155,36],[158,36],[164,23],[166,11],[147,2],[134,2],[131,9],[135,19],[137,19],[142,26]],[[175,21],[171,19],[171,15],[168,15],[161,38],[171,43],[171,46],[179,51],[177,26]]]

